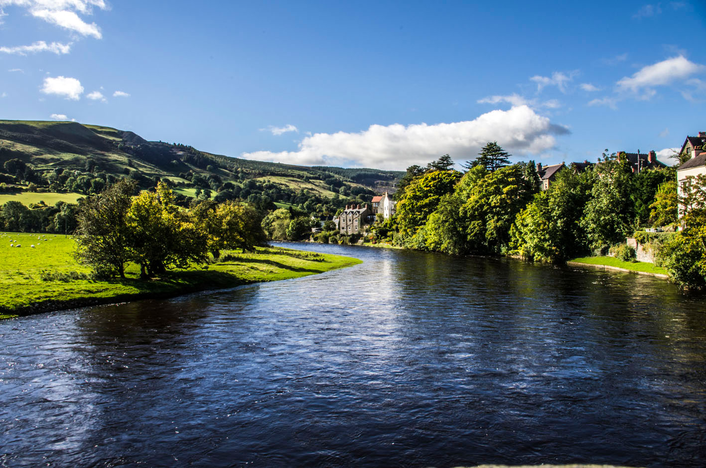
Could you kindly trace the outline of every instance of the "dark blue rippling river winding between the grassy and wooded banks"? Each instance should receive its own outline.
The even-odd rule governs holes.
[[[706,466],[702,299],[293,246],[364,263],[0,322],[0,466]]]

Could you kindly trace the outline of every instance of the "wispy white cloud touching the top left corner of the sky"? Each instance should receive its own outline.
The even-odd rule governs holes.
[[[2,8],[12,5],[26,8],[30,15],[59,28],[96,39],[102,38],[98,25],[87,23],[78,14],[91,15],[94,6],[108,9],[104,0],[0,0],[0,16],[7,16]]]

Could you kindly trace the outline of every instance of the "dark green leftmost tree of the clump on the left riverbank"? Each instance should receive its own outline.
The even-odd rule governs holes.
[[[122,179],[101,195],[84,198],[80,203],[76,258],[95,272],[125,277],[125,265],[131,258],[126,216],[136,185],[135,181]],[[61,211],[66,213],[68,208],[64,210],[62,206]],[[59,218],[59,224],[63,224],[64,216]]]

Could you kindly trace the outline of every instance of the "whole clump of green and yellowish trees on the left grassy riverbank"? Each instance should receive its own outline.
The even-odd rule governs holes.
[[[80,207],[76,258],[97,275],[125,277],[133,262],[142,277],[154,277],[206,263],[209,251],[218,258],[223,248],[252,250],[265,239],[253,208],[202,202],[185,210],[167,184],[135,189],[134,181],[119,181]]]

